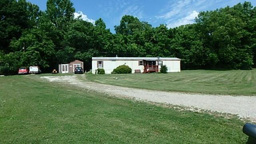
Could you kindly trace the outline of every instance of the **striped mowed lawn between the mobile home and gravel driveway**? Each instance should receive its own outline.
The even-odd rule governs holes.
[[[87,74],[93,82],[142,88],[224,95],[256,95],[254,70],[183,70],[168,74]]]

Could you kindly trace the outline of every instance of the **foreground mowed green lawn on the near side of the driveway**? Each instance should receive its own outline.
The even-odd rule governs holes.
[[[0,143],[241,144],[237,118],[108,97],[38,75],[0,77]]]

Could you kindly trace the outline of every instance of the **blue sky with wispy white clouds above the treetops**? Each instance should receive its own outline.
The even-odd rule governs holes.
[[[47,0],[28,0],[46,9]],[[189,24],[200,11],[234,6],[244,0],[71,0],[76,9],[75,16],[89,22],[102,18],[107,28],[114,33],[122,16],[129,14],[156,27],[166,24],[168,28]],[[247,0],[256,6],[256,0]]]

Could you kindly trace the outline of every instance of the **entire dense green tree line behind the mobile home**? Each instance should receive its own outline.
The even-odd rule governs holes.
[[[92,24],[74,12],[70,0],[48,0],[45,11],[26,0],[1,0],[0,72],[30,65],[45,71],[75,59],[90,65],[92,56],[116,54],[177,57],[182,69],[250,70],[256,64],[256,7],[250,2],[200,12],[194,24],[176,28],[125,15],[116,34],[101,18]]]

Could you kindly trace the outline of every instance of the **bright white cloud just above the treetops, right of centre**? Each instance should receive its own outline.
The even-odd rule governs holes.
[[[192,24],[194,23],[194,19],[198,16],[198,12],[194,10],[192,13],[188,14],[187,16],[180,18],[178,20],[169,20],[167,22],[167,27],[168,28],[175,28],[180,25],[185,25],[185,24]]]

